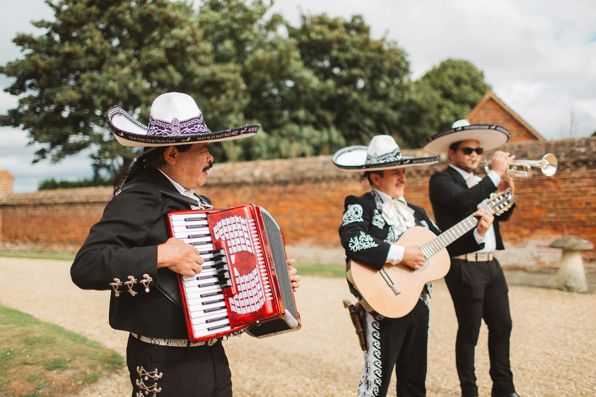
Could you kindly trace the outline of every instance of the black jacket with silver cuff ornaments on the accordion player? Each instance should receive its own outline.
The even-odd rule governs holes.
[[[156,168],[132,179],[131,186],[114,196],[103,217],[94,224],[70,268],[73,282],[82,289],[112,290],[110,283],[129,276],[136,282],[119,286],[110,298],[110,326],[138,335],[188,339],[176,273],[157,269],[157,245],[169,238],[166,214],[190,210],[190,205],[159,189],[178,193]],[[149,292],[143,276],[153,279]],[[135,295],[133,295],[135,293]]]

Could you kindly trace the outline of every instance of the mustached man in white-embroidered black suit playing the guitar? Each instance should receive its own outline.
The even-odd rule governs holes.
[[[440,233],[423,208],[409,204],[403,198],[405,168],[433,164],[438,160],[438,156],[402,156],[399,146],[388,135],[373,137],[368,147],[349,146],[334,155],[334,164],[346,171],[364,171],[362,180],[366,177],[371,185],[370,192],[359,197],[347,196],[345,200],[339,235],[348,265],[355,261],[373,270],[406,265],[411,271],[425,266],[427,258],[418,246],[392,243],[415,226],[429,229],[436,235]],[[480,221],[474,235],[467,238],[470,244],[480,249],[493,215],[486,210],[479,210],[474,215]],[[420,298],[411,311],[402,317],[390,318],[362,302],[362,294],[351,280],[349,271],[347,278],[350,291],[368,310],[363,321],[367,349],[358,395],[385,396],[395,366],[397,396],[426,396],[430,284],[426,283],[418,290]]]

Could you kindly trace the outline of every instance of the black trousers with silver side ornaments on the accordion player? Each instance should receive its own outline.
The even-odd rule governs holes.
[[[132,397],[231,397],[224,346],[160,346],[129,336],[126,363]]]

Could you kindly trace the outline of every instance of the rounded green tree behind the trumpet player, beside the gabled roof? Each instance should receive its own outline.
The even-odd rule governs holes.
[[[465,118],[491,86],[470,62],[448,59],[411,88],[406,134],[419,142]]]

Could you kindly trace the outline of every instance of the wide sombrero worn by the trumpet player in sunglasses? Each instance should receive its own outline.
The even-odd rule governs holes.
[[[437,132],[427,137],[420,146],[427,152],[445,153],[449,146],[462,140],[477,140],[485,150],[499,148],[511,137],[511,134],[501,126],[494,124],[470,124],[468,120],[457,120],[450,129]]]

